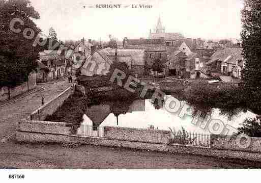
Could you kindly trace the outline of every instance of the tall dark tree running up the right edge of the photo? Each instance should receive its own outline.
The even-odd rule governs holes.
[[[243,84],[248,107],[261,114],[261,2],[245,0],[242,10],[241,33],[243,57]]]

